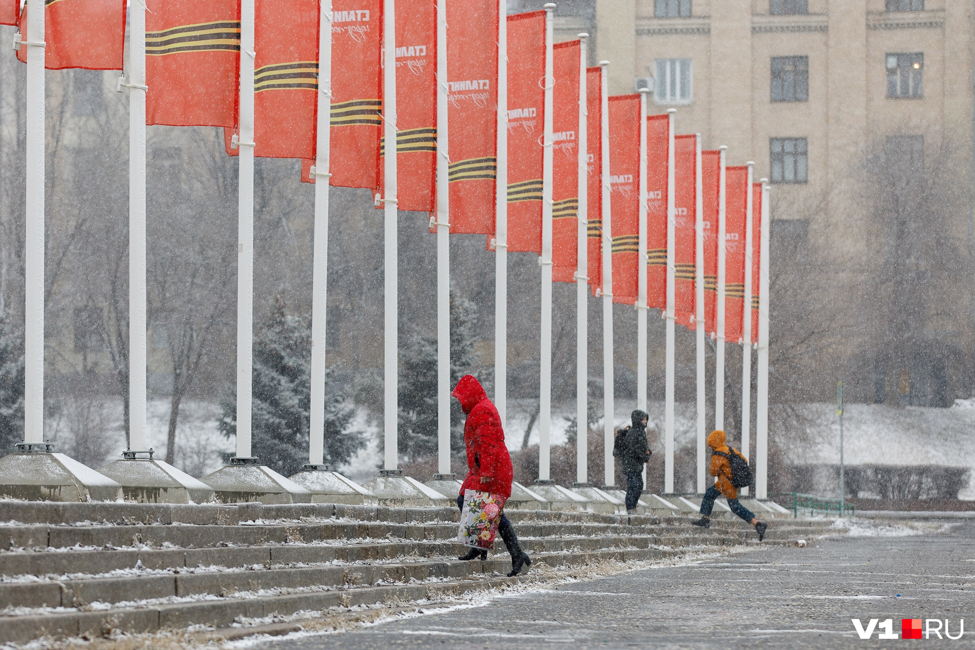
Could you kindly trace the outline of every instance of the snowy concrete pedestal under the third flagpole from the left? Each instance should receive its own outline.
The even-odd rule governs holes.
[[[310,491],[291,478],[258,465],[256,458],[231,458],[230,463],[202,478],[214,488],[219,503],[311,503]]]

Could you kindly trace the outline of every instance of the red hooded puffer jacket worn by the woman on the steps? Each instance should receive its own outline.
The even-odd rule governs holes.
[[[464,424],[464,445],[467,447],[467,478],[460,487],[480,490],[505,498],[511,496],[511,456],[504,444],[501,416],[494,403],[487,399],[481,383],[471,375],[464,375],[451,394],[460,401],[467,414]],[[490,478],[481,482],[481,478]]]

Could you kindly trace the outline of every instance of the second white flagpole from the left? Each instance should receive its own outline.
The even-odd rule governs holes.
[[[129,450],[145,440],[145,5],[129,4]],[[121,89],[120,89],[121,90]]]

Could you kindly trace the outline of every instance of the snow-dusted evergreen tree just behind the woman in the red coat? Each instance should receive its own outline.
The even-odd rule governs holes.
[[[474,369],[477,307],[450,289],[450,388]],[[400,453],[409,459],[437,453],[437,337],[414,331],[400,363]],[[482,373],[484,374],[484,373]],[[479,377],[490,391],[490,377]],[[450,448],[464,447],[464,413],[450,399]]]

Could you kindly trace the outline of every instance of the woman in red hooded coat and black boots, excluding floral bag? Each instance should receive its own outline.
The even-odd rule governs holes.
[[[460,486],[457,507],[463,510],[464,490],[478,490],[505,498],[510,497],[514,473],[511,467],[511,456],[504,443],[504,430],[501,427],[501,416],[497,408],[487,399],[481,383],[469,374],[460,378],[451,395],[460,402],[460,407],[467,415],[467,421],[464,423],[467,478]],[[522,550],[515,528],[503,512],[497,532],[504,540],[508,553],[511,554],[511,573],[508,575],[518,575],[523,567],[530,567],[531,558]],[[478,556],[487,559],[487,551],[471,549],[459,559],[474,559]]]

